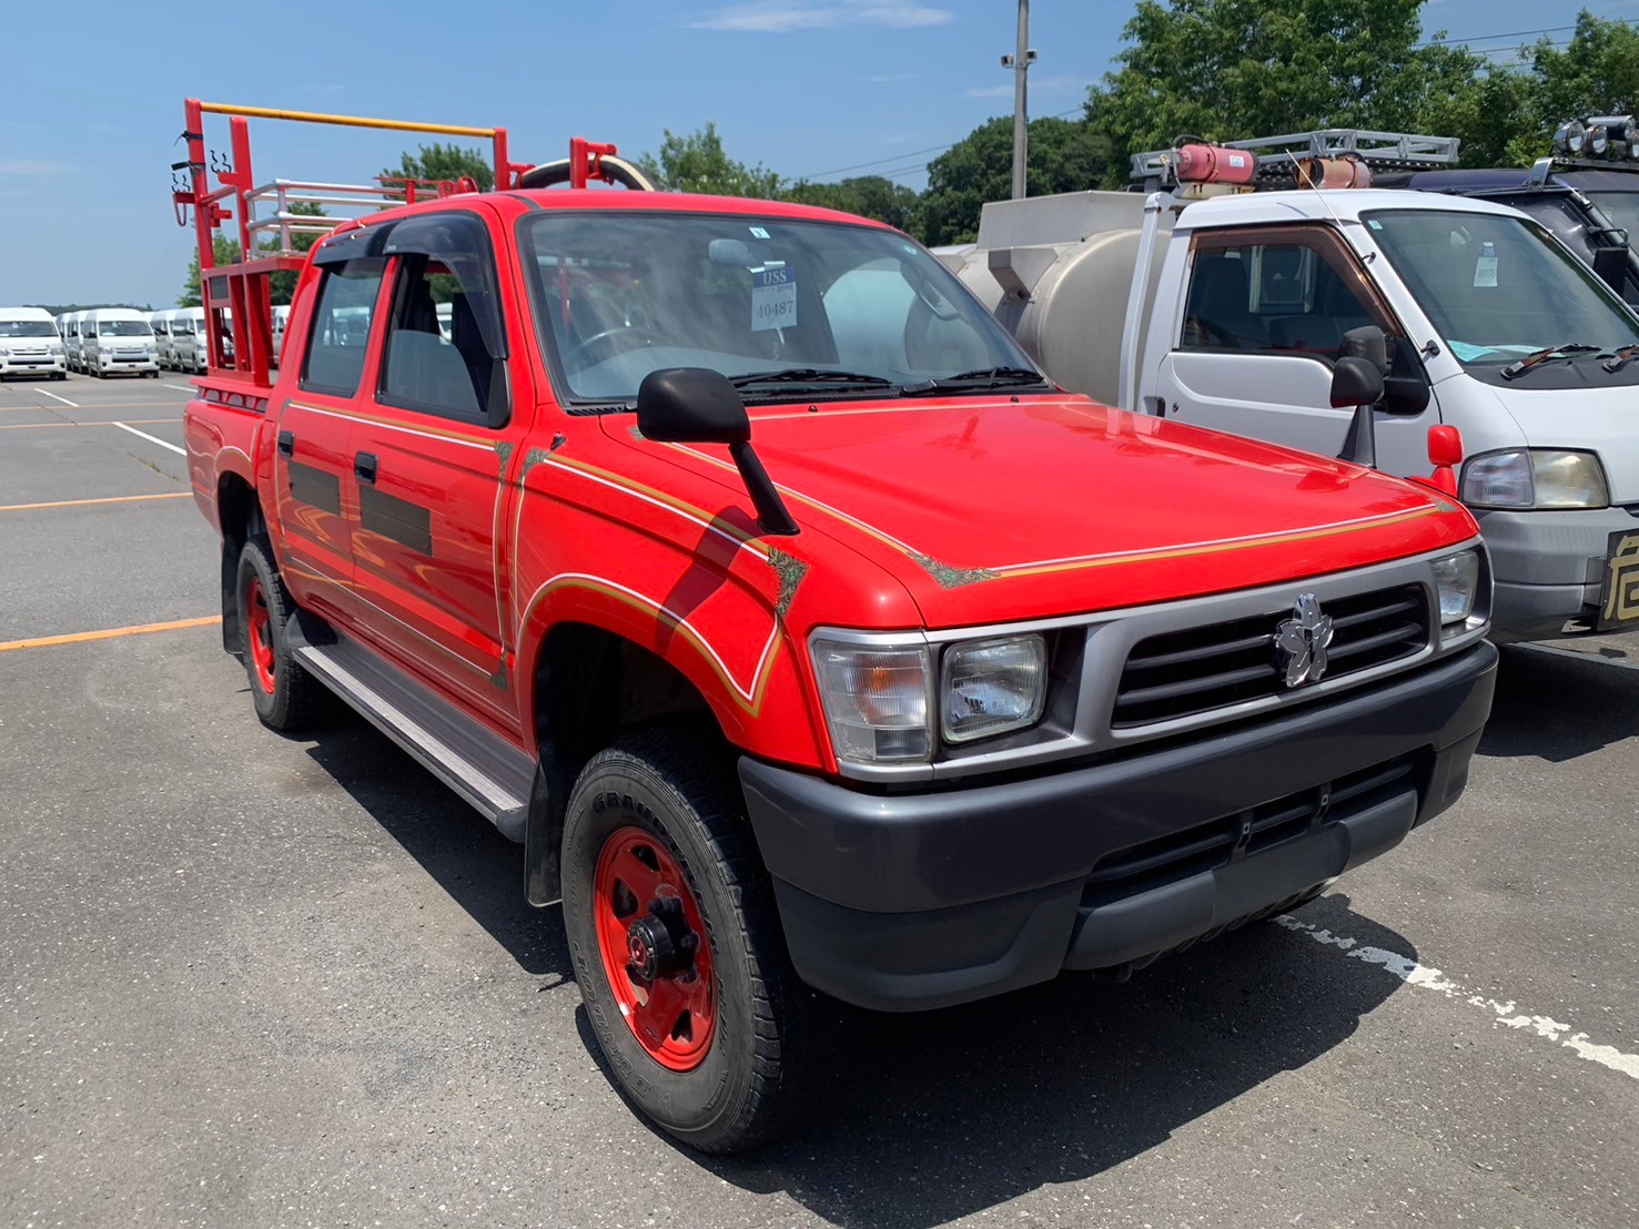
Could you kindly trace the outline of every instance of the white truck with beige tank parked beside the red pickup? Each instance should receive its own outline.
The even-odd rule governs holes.
[[[985,206],[956,267],[1044,369],[1128,410],[1337,456],[1342,334],[1387,338],[1377,465],[1455,490],[1496,574],[1498,639],[1639,628],[1639,316],[1542,224],[1393,190]]]

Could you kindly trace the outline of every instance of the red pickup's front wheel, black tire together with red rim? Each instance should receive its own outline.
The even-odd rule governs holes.
[[[813,1106],[821,1000],[792,970],[720,751],[659,729],[600,752],[569,796],[562,867],[580,996],[642,1113],[738,1152]]]

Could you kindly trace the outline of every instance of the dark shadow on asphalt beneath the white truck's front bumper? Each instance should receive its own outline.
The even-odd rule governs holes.
[[[1564,764],[1639,732],[1632,670],[1529,647],[1503,649],[1496,700],[1480,755],[1536,755]]]

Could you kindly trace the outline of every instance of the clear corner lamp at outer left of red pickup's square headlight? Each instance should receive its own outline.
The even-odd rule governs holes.
[[[926,764],[933,759],[933,664],[926,647],[816,639],[815,677],[838,759]]]

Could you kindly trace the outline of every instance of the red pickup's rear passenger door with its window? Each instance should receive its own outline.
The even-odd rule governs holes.
[[[297,392],[279,406],[274,449],[285,570],[308,605],[343,623],[357,613],[349,508],[354,416],[367,398],[370,320],[387,270],[380,256],[349,259],[356,246],[331,241],[318,257],[302,374]]]

